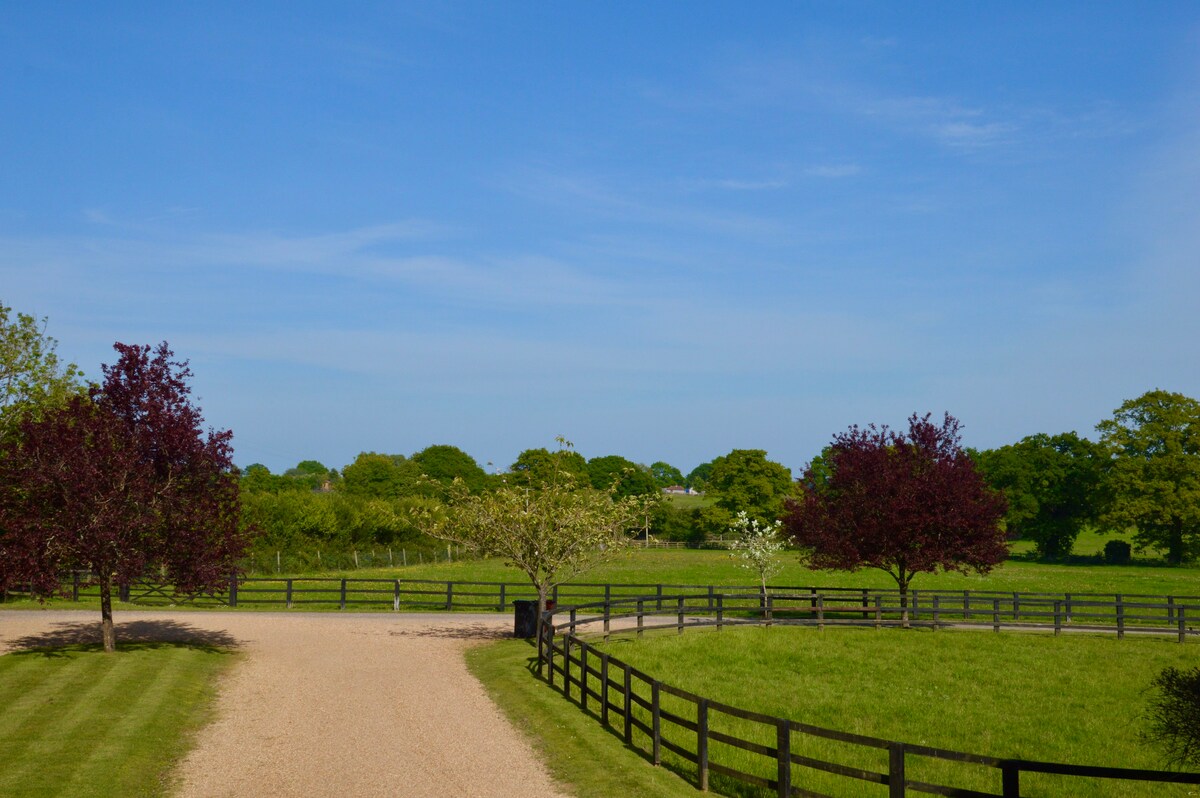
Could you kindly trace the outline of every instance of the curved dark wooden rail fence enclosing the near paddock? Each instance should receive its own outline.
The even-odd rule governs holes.
[[[853,734],[832,728],[812,726],[787,718],[775,718],[755,713],[739,707],[720,703],[712,698],[700,696],[674,685],[655,679],[653,676],[640,671],[636,667],[619,660],[616,656],[598,648],[594,643],[580,636],[581,630],[596,631],[595,624],[602,625],[604,640],[607,641],[611,634],[629,632],[641,636],[653,629],[674,629],[679,634],[688,628],[712,625],[718,629],[731,624],[773,624],[796,623],[794,619],[781,619],[781,612],[818,613],[817,623],[863,623],[874,624],[878,628],[883,620],[884,611],[894,614],[893,620],[902,623],[904,607],[900,602],[894,602],[884,608],[881,594],[869,595],[862,601],[847,602],[848,598],[826,596],[817,592],[802,596],[799,601],[810,601],[808,606],[790,605],[781,608],[776,601],[779,596],[770,595],[766,599],[762,595],[726,595],[708,593],[684,594],[684,595],[646,595],[630,599],[608,600],[592,602],[587,605],[559,607],[547,611],[540,619],[538,628],[538,664],[539,673],[554,686],[562,690],[563,695],[576,703],[583,710],[589,710],[592,702],[595,702],[594,712],[599,722],[620,736],[626,745],[635,746],[647,754],[655,766],[662,762],[662,751],[667,750],[679,756],[685,762],[695,767],[696,787],[706,791],[713,774],[742,781],[750,785],[775,791],[781,798],[791,796],[805,796],[815,798],[828,798],[824,793],[806,790],[798,784],[797,778],[803,780],[810,772],[832,774],[853,781],[865,781],[887,787],[888,798],[902,798],[907,791],[955,796],[961,798],[1019,798],[1021,796],[1022,774],[1056,774],[1068,778],[1086,778],[1098,780],[1124,780],[1124,781],[1153,781],[1158,784],[1200,785],[1200,773],[1180,773],[1171,770],[1145,770],[1132,768],[1109,768],[1096,766],[1066,764],[1058,762],[1037,762],[1028,760],[1009,760],[978,754],[967,754],[948,749],[917,745],[898,740],[888,740],[863,734]],[[796,600],[796,596],[790,596]],[[829,601],[835,598],[838,601]],[[940,593],[930,596],[931,602],[928,611],[932,618],[928,622],[937,628],[937,616],[948,613],[955,622],[964,620],[971,623],[979,613],[992,613],[995,618],[1000,612],[998,598],[989,598],[989,606],[972,606],[971,596],[962,596],[959,605],[947,606],[946,594]],[[1146,596],[1138,596],[1145,599]],[[1160,596],[1159,596],[1160,598]],[[748,610],[746,599],[760,600],[760,606]],[[858,596],[862,599],[862,596]],[[978,596],[976,596],[978,599]],[[1028,600],[1028,596],[1026,596]],[[1042,599],[1040,604],[1027,604],[1021,612],[1030,614],[1046,614],[1048,607],[1054,607],[1056,622],[1063,618],[1063,599]],[[1016,601],[1014,600],[1014,604]],[[1133,618],[1160,620],[1170,608],[1172,622],[1177,620],[1180,641],[1183,642],[1184,618],[1190,611],[1192,617],[1200,617],[1200,601],[1195,605],[1180,604],[1172,599],[1170,601],[1136,601],[1124,604],[1121,596],[1116,596],[1112,602],[1102,602],[1092,599],[1072,598],[1072,611],[1094,610],[1097,612],[1085,613],[1088,616],[1103,616],[1102,608],[1112,608],[1114,617],[1123,617],[1126,622]],[[907,607],[912,611],[912,606]],[[1128,614],[1129,610],[1135,610],[1138,614]],[[1012,607],[1009,607],[1012,612]],[[1124,614],[1118,614],[1121,610]],[[730,617],[734,612],[738,617]],[[1164,614],[1157,614],[1160,611]],[[846,618],[846,614],[856,616]],[[563,617],[566,617],[565,622]],[[863,616],[866,616],[864,619]],[[624,622],[622,629],[613,629],[614,620]],[[630,623],[630,620],[632,623]],[[652,623],[647,623],[647,622]],[[811,620],[806,618],[805,620]],[[560,623],[562,622],[562,623]],[[1000,623],[994,623],[995,629],[1001,629]],[[1126,626],[1123,631],[1163,631],[1163,625],[1145,628]],[[1058,628],[1056,628],[1058,631]],[[1111,630],[1110,630],[1111,631]],[[1120,636],[1120,632],[1118,632]],[[672,709],[665,706],[662,696],[671,696],[673,706],[682,703],[686,710]],[[732,731],[722,719],[733,718],[743,724],[750,724],[757,732]],[[750,739],[751,737],[756,739]],[[804,754],[803,740],[805,738],[821,738],[834,740],[840,744],[854,746],[857,749],[877,750],[886,755],[886,761],[880,761],[878,769],[868,769],[847,764],[845,762],[832,762],[817,756]],[[773,778],[746,773],[732,767],[727,762],[714,761],[713,748],[724,746],[721,750],[739,750],[761,757],[761,763],[766,770],[770,770]],[[720,757],[718,757],[720,758]],[[910,778],[910,763],[918,764],[922,760],[940,760],[946,762],[968,763],[990,768],[997,774],[992,784],[998,782],[998,792],[966,788],[944,784],[935,784]],[[1076,785],[1079,786],[1079,785]],[[994,786],[992,790],[996,787]],[[1082,794],[1079,790],[1072,790],[1069,794]],[[1088,793],[1093,794],[1093,793]]]

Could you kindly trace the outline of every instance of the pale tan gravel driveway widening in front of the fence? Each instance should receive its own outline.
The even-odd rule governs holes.
[[[511,634],[494,614],[118,612],[121,640],[242,652],[180,798],[566,796],[470,676],[463,650]],[[100,640],[98,613],[0,612],[0,653]]]

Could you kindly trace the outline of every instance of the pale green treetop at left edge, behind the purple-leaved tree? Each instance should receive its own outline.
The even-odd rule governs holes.
[[[0,440],[26,414],[61,407],[82,391],[74,364],[55,354],[58,341],[46,335],[46,319],[12,313],[0,302]]]

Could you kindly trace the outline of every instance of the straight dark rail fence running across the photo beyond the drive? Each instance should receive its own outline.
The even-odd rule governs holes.
[[[64,580],[73,600],[98,596],[86,571]],[[515,600],[536,599],[528,583],[413,578],[236,577],[214,594],[179,595],[172,586],[137,580],[118,586],[122,601],[143,605],[337,607],[341,610],[404,608],[504,611]],[[7,595],[28,595],[10,588]],[[574,583],[556,587],[550,599],[578,611],[605,616],[648,617],[685,599],[690,623],[799,623],[826,625],[911,625],[942,629],[956,625],[1055,630],[1174,634],[1182,642],[1200,622],[1200,596],[1112,593],[1027,593],[1001,590],[910,590],[846,587],[712,586],[670,583]],[[905,617],[907,613],[907,618]],[[650,613],[653,614],[653,613]],[[698,618],[696,618],[698,616]],[[708,620],[704,620],[708,619]],[[593,623],[596,619],[593,619]]]

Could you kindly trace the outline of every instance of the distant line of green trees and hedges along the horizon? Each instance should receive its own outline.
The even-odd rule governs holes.
[[[1094,442],[1075,432],[1039,433],[968,450],[985,481],[1008,499],[1009,536],[1031,540],[1044,559],[1068,557],[1086,527],[1162,550],[1171,563],[1200,554],[1200,402],[1150,391],[1124,402],[1097,431]],[[311,460],[282,474],[254,464],[241,474],[242,511],[258,551],[404,545],[432,551],[444,544],[421,535],[409,518],[437,512],[442,486],[455,479],[472,492],[503,482],[535,486],[548,479],[552,462],[547,449],[527,449],[504,472],[488,474],[461,449],[433,445],[409,456],[362,452],[341,472]],[[726,535],[739,511],[774,520],[788,498],[820,490],[804,478],[793,480],[761,449],[734,449],[686,475],[662,461],[588,460],[576,451],[565,452],[559,467],[581,487],[619,496],[662,496],[672,486],[703,493],[652,505],[636,532],[661,540]],[[818,454],[805,473],[820,475],[822,467]],[[1114,551],[1120,556],[1121,547]]]

